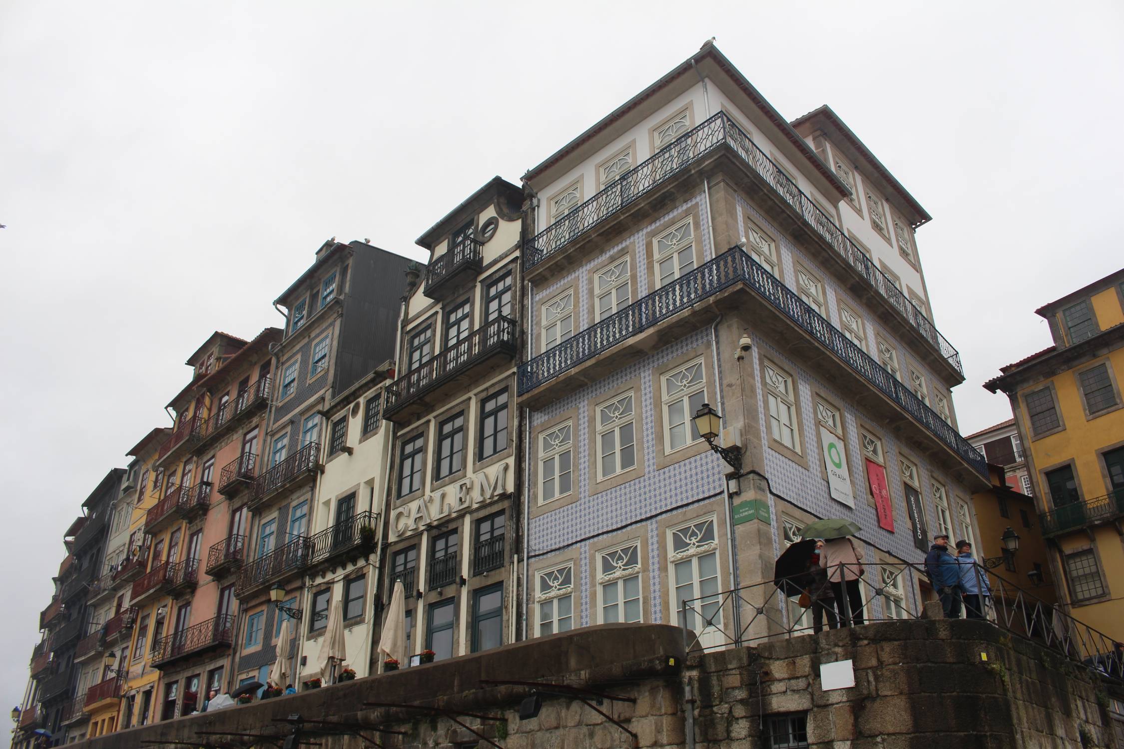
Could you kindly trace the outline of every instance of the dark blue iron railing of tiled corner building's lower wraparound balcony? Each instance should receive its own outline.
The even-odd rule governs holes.
[[[579,364],[613,348],[628,338],[689,309],[698,302],[744,283],[799,328],[810,334],[830,351],[843,359],[856,374],[900,405],[934,437],[981,476],[987,476],[987,460],[941,415],[903,385],[882,365],[859,348],[826,318],[816,312],[791,289],[744,250],[731,248],[676,281],[661,286],[600,322],[543,351],[519,367],[519,394],[561,376]]]

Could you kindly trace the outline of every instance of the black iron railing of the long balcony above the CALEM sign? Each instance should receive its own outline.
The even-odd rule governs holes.
[[[414,400],[496,351],[515,353],[515,320],[499,316],[388,385],[383,413],[393,415]]]

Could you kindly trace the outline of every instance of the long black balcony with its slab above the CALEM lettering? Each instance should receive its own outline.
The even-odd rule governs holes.
[[[470,383],[483,382],[495,368],[495,356],[515,356],[515,336],[511,318],[486,322],[388,385],[383,415],[397,423],[409,423],[448,395],[463,392]]]

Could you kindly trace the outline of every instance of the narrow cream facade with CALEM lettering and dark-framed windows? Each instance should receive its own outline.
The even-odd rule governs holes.
[[[402,583],[410,656],[516,637],[522,203],[522,189],[495,177],[417,240],[429,263],[404,307],[383,403],[393,435],[383,590],[389,602]]]

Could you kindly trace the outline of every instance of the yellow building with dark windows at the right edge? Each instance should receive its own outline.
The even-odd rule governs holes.
[[[984,386],[1010,399],[1060,602],[1124,640],[1124,270],[1035,312],[1053,346]]]

